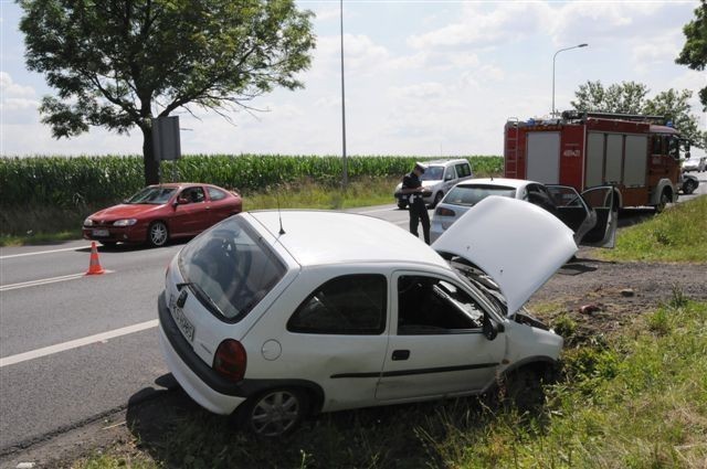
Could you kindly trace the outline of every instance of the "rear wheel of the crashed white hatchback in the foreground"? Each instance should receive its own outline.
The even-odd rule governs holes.
[[[236,411],[242,428],[258,437],[275,438],[294,431],[309,411],[304,391],[271,390],[246,401]]]

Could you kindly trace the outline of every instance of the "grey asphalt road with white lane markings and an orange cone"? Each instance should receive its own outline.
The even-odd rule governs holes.
[[[697,175],[707,194],[707,172]],[[408,226],[408,212],[394,205],[357,212]],[[156,302],[182,246],[101,247],[107,273],[98,276],[84,276],[85,241],[0,248],[0,456],[170,383]]]

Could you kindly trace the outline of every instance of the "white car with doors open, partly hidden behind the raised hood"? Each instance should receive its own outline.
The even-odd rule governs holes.
[[[466,211],[489,195],[518,199],[547,210],[574,232],[577,245],[614,246],[618,227],[615,189],[601,185],[579,194],[568,185],[507,178],[469,179],[452,188],[432,215],[430,239],[434,242]]]

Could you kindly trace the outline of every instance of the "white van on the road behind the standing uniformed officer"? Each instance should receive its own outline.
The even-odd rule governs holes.
[[[423,201],[425,205],[434,207],[444,194],[452,189],[454,184],[473,178],[472,167],[467,160],[435,160],[419,162],[424,168],[424,173],[420,177],[422,186],[424,188]],[[400,193],[402,182],[395,186],[394,198],[398,207],[408,206],[408,196]]]

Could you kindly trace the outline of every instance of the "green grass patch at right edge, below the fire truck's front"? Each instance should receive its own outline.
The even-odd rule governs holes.
[[[604,260],[707,262],[707,196],[676,204],[619,233],[614,249],[597,249]]]

